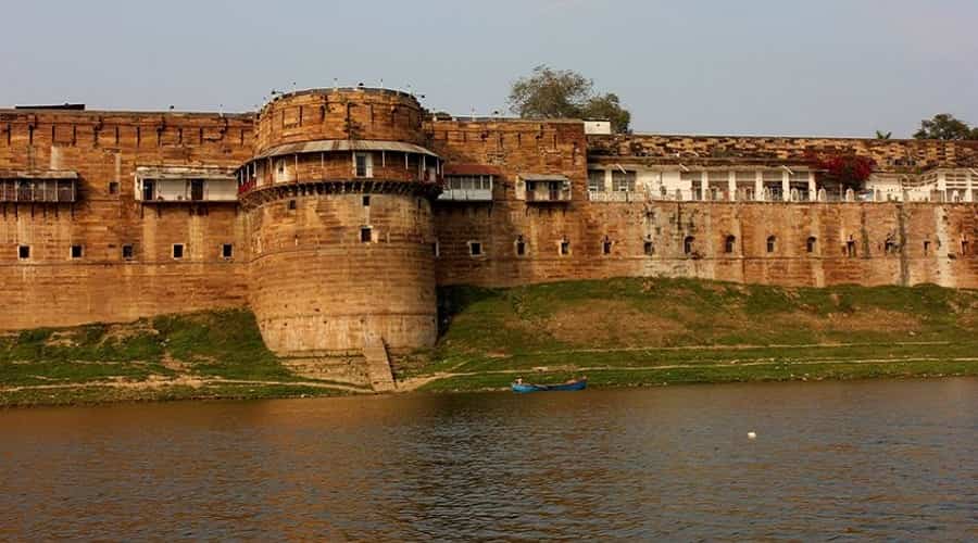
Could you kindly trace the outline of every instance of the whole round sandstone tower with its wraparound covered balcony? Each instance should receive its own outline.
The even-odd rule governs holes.
[[[441,159],[424,111],[384,89],[284,94],[259,114],[239,173],[251,239],[249,299],[279,354],[430,346]]]

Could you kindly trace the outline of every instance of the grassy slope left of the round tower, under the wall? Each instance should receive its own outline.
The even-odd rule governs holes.
[[[349,392],[289,371],[247,311],[0,337],[0,406]]]

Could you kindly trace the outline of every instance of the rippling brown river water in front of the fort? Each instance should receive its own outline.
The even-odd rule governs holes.
[[[0,540],[974,540],[978,379],[14,409],[0,490]]]

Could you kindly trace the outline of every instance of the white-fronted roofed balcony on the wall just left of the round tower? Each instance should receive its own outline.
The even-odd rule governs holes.
[[[136,168],[136,200],[179,204],[237,202],[238,184],[231,169],[216,167]]]

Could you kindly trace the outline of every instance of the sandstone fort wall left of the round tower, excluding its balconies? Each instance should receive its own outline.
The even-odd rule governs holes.
[[[236,204],[142,205],[134,191],[138,165],[240,164],[251,130],[247,115],[0,111],[0,169],[79,176],[74,204],[0,203],[0,329],[244,305]],[[184,258],[173,258],[174,243]],[[20,245],[30,247],[28,260]]]

